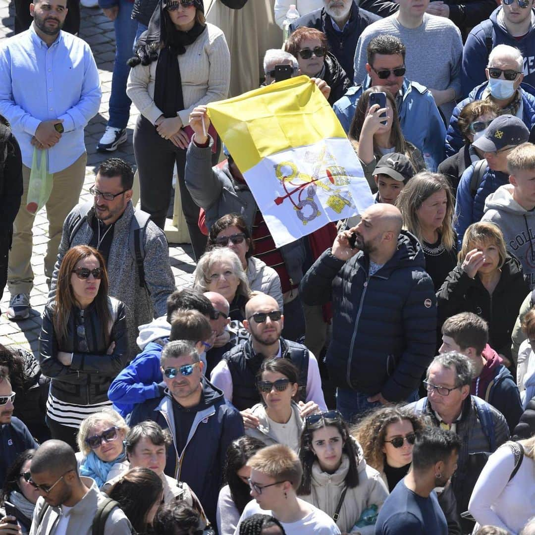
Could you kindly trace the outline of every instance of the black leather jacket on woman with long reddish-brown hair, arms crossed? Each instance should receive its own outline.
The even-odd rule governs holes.
[[[128,363],[128,343],[125,305],[108,297],[114,318],[110,340],[115,342],[111,355],[106,354],[108,345],[104,339],[101,318],[97,316],[94,303],[85,310],[84,326],[88,350],[80,350],[77,334],[79,324],[78,309],[70,315],[67,340],[58,347],[53,328],[54,303],[48,304],[43,313],[43,326],[39,339],[39,362],[42,372],[52,378],[51,393],[55,398],[67,403],[89,405],[108,401],[111,381]],[[70,366],[64,366],[57,359],[58,351],[73,353]]]

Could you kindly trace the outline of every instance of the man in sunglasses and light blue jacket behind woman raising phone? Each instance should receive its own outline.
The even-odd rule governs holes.
[[[394,35],[373,37],[366,48],[366,77],[357,81],[359,85],[350,87],[334,103],[333,110],[348,133],[363,91],[374,86],[384,87],[395,98],[403,136],[427,155],[426,163],[434,163],[429,171],[436,171],[444,159],[446,127],[431,92],[405,77],[406,52],[405,45]]]

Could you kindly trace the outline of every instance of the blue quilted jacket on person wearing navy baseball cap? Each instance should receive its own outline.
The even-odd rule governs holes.
[[[464,170],[461,181],[457,186],[457,197],[455,201],[455,213],[457,222],[455,223],[455,232],[457,233],[457,250],[462,249],[463,236],[467,228],[472,223],[477,223],[483,217],[485,209],[485,200],[487,195],[494,193],[496,189],[504,184],[509,184],[509,175],[500,171],[493,171],[490,167],[485,169],[476,195],[473,196],[470,191],[470,182],[474,166],[470,165]]]

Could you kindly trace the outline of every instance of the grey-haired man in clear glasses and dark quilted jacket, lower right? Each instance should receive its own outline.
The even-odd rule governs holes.
[[[454,431],[461,439],[458,468],[452,478],[459,514],[468,509],[470,494],[486,461],[484,454],[493,453],[509,439],[501,412],[470,395],[472,376],[468,357],[456,351],[443,353],[427,368],[427,397],[409,406],[416,414],[429,417],[434,426]],[[461,519],[461,526],[463,533],[468,533],[473,523]]]

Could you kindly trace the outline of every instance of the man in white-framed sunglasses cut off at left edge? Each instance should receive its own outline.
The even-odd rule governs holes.
[[[13,416],[15,393],[6,376],[0,376],[0,485],[19,453],[37,447],[28,427]]]

